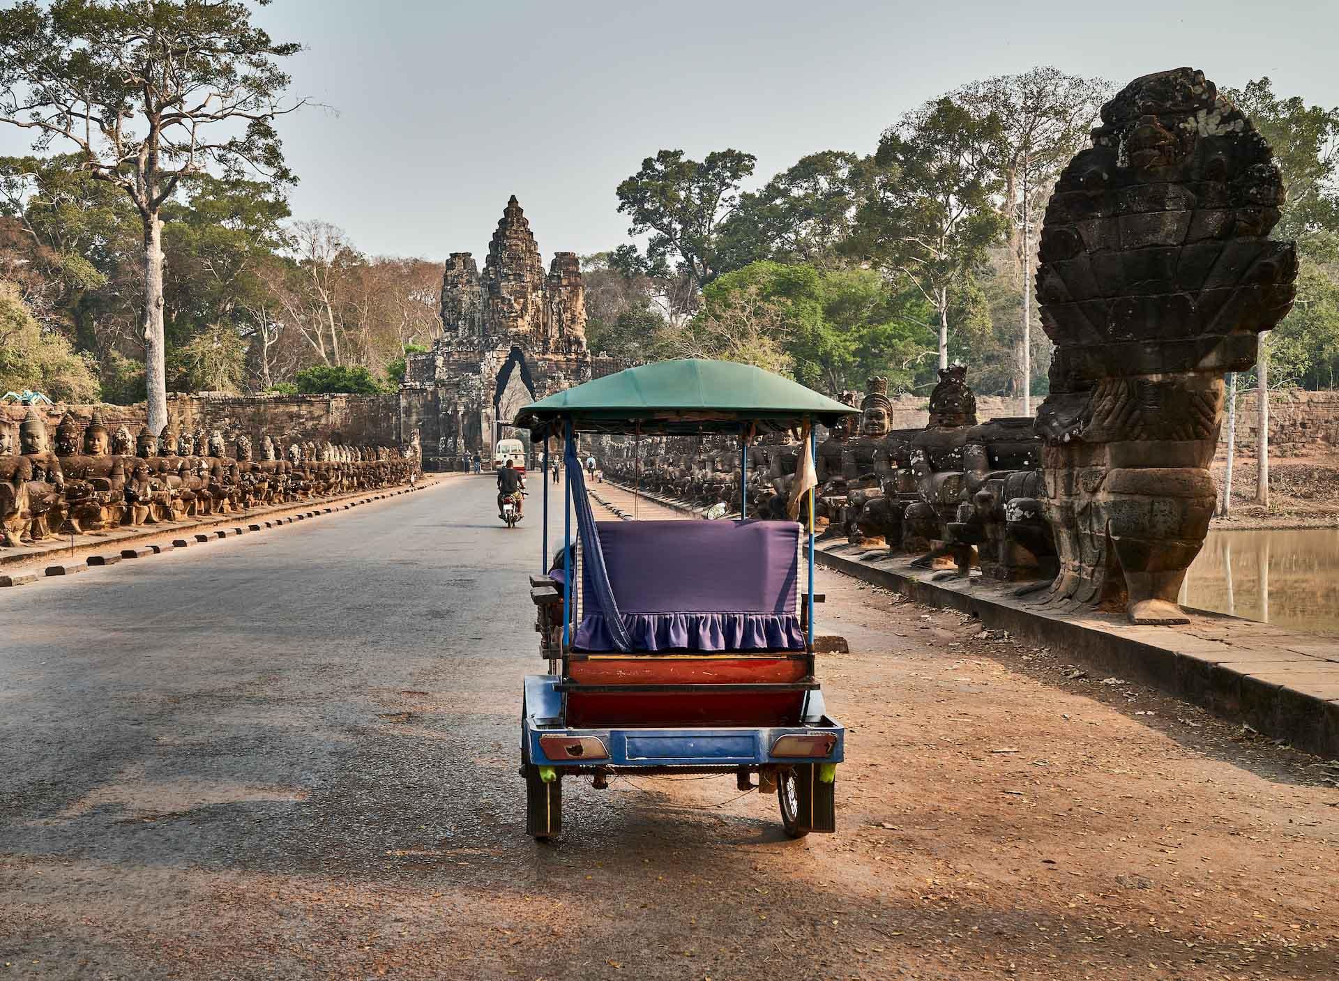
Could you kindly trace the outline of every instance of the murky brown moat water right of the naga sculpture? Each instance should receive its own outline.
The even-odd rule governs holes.
[[[1181,602],[1339,636],[1339,529],[1210,531]]]

